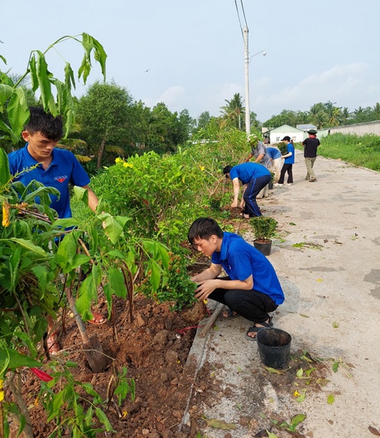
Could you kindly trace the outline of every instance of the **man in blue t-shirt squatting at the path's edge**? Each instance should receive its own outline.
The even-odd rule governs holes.
[[[228,306],[225,318],[242,315],[255,324],[246,332],[255,340],[258,331],[271,327],[274,312],[285,297],[274,267],[237,234],[223,232],[212,218],[198,218],[189,229],[191,245],[206,257],[212,257],[211,266],[194,275],[198,283],[196,298],[207,298]],[[228,277],[219,278],[221,269]]]

